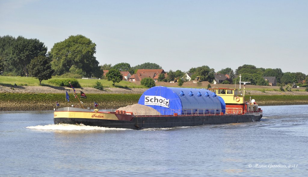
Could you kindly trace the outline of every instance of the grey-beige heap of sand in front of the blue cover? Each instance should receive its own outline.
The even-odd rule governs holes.
[[[132,112],[133,115],[160,115],[160,113],[156,111],[154,108],[142,104],[128,105],[126,107],[120,107],[117,110]]]

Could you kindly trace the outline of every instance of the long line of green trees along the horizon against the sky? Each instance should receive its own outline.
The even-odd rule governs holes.
[[[130,66],[129,63],[121,62],[114,66],[103,64],[99,66],[94,54],[96,53],[96,44],[83,35],[71,35],[67,39],[55,43],[49,52],[47,47],[39,39],[27,39],[22,36],[17,38],[6,35],[0,36],[0,71],[8,76],[32,76],[42,80],[47,80],[51,76],[82,78],[97,77],[103,78],[103,70],[128,71],[131,74],[136,73],[138,69],[162,69],[156,63],[145,62],[136,66]],[[168,76],[164,74],[159,76],[159,81],[187,81],[185,72],[181,70],[169,70]],[[285,72],[280,68],[257,68],[253,65],[239,66],[235,72],[231,68],[221,69],[215,72],[209,66],[198,66],[188,70],[193,73],[192,79],[199,76],[201,81],[213,82],[214,74],[228,74],[230,78],[225,80],[225,84],[238,83],[239,74],[243,81],[251,82],[253,85],[268,85],[263,76],[274,76],[277,85],[289,83],[298,83],[299,86],[305,86],[303,81],[308,81],[308,76],[301,72]],[[106,74],[106,73],[105,73]]]

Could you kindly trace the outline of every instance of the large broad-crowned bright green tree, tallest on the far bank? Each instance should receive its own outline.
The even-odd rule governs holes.
[[[83,35],[69,36],[62,42],[55,43],[49,52],[55,74],[62,75],[74,66],[85,73],[85,77],[100,78],[103,74],[94,54],[96,44]]]

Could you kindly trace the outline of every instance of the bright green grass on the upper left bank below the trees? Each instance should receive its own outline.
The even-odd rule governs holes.
[[[51,78],[52,79],[59,79],[59,78]],[[60,78],[63,79],[63,78]],[[93,87],[95,83],[101,82],[103,87],[120,87],[120,88],[145,88],[142,85],[138,85],[136,83],[131,83],[128,81],[121,81],[119,83],[115,83],[113,86],[113,82],[107,81],[105,79],[77,79],[79,84],[82,87]],[[8,85],[8,86],[39,86],[39,79],[33,77],[20,77],[20,76],[0,76],[0,85]],[[48,80],[42,81],[42,86],[57,86],[52,83],[48,83]]]

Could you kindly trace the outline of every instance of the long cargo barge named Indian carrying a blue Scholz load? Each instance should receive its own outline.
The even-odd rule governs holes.
[[[155,86],[145,91],[138,102],[155,112],[99,111],[72,106],[56,109],[54,123],[140,130],[260,121],[262,109],[254,99],[245,101],[244,96],[245,86],[242,92],[230,88]]]

